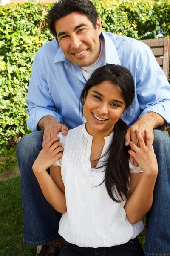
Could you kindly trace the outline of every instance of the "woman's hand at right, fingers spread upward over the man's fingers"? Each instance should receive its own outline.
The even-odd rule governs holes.
[[[130,141],[129,145],[134,150],[129,150],[129,154],[134,157],[136,162],[142,168],[144,174],[147,175],[157,175],[158,173],[158,163],[156,160],[156,155],[153,151],[153,136],[148,130],[145,130],[145,143],[142,134],[138,129],[135,130],[138,137],[140,147],[137,147],[135,143]]]

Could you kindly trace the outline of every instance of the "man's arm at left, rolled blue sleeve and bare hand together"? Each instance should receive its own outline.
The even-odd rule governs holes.
[[[64,135],[68,132],[68,128],[61,124],[62,116],[57,113],[44,74],[43,65],[36,55],[27,95],[29,114],[27,124],[31,131],[37,131],[38,128],[44,130],[43,147],[56,138],[59,131],[62,131]]]

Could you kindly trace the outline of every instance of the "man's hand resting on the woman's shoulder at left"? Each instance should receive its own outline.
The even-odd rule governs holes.
[[[41,130],[44,130],[42,147],[54,138],[57,138],[57,134],[61,131],[63,135],[67,135],[68,128],[65,125],[60,124],[57,119],[52,116],[44,116],[39,121],[38,126]]]

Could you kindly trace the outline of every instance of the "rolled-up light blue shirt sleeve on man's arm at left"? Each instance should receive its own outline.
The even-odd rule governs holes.
[[[40,53],[37,52],[34,58],[26,98],[28,104],[27,113],[29,114],[27,125],[31,131],[37,131],[38,123],[44,116],[52,116],[54,119],[57,119],[59,123],[63,121],[62,116],[57,113],[57,107],[49,91],[44,67],[39,55]]]

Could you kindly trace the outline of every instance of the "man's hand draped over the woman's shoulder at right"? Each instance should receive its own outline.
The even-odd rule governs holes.
[[[153,139],[153,129],[156,127],[159,127],[161,125],[165,124],[165,120],[162,116],[160,116],[157,113],[150,112],[142,115],[140,119],[135,122],[133,125],[130,126],[130,128],[127,130],[127,133],[125,135],[125,146],[129,145],[130,141],[133,141],[136,146],[139,146],[138,137],[136,135],[135,130],[138,129],[140,134],[142,134],[142,137],[145,141],[145,130],[148,130],[150,134],[150,139]],[[130,161],[135,165],[138,166],[136,163],[136,160],[130,155]]]

